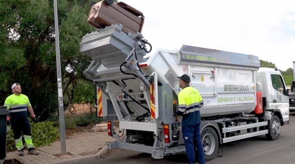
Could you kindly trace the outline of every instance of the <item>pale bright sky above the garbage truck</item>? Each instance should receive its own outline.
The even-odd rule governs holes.
[[[182,45],[256,55],[286,71],[295,61],[295,0],[118,0],[145,16],[158,49]]]

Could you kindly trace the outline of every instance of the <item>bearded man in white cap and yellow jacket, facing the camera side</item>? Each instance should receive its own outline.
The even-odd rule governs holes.
[[[21,85],[19,83],[14,83],[11,86],[11,89],[13,94],[6,98],[4,106],[10,110],[10,124],[14,134],[15,145],[19,151],[19,156],[24,155],[22,134],[28,148],[28,154],[39,155],[39,152],[37,152],[33,146],[31,128],[28,120],[27,111],[29,111],[31,118],[36,122],[36,116],[29,98],[26,95],[21,94]]]

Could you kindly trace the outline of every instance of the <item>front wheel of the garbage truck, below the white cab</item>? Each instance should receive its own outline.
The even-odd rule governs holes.
[[[266,134],[268,140],[277,140],[281,135],[281,121],[274,115],[273,119],[270,121],[269,133]]]

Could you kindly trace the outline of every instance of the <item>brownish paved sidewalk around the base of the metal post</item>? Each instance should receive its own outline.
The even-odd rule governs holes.
[[[50,146],[36,147],[39,155],[28,155],[27,150],[24,156],[19,156],[18,151],[6,153],[5,160],[16,159],[22,164],[79,164],[81,160],[90,161],[99,158],[106,152],[106,142],[115,141],[107,135],[107,131],[82,131],[71,134],[66,139],[67,155],[60,156],[61,143],[56,141]],[[5,164],[5,163],[4,163]]]

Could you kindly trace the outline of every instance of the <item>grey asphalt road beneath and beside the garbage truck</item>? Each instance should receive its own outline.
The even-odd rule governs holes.
[[[265,136],[227,143],[219,147],[217,157],[206,164],[295,164],[295,115],[282,127],[276,141],[267,141]],[[105,158],[83,164],[186,164],[186,155],[167,156],[161,160],[150,154],[129,150],[112,150]],[[197,164],[197,163],[196,163]]]

